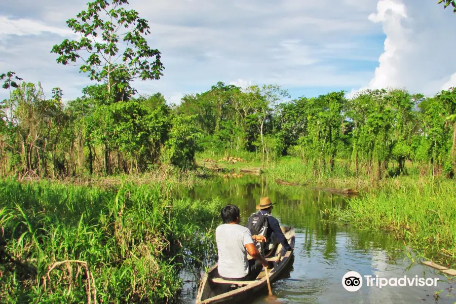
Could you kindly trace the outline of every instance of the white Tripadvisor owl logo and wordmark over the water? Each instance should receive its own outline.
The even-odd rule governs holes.
[[[437,286],[439,278],[419,278],[418,276],[401,278],[381,278],[378,276],[364,276],[367,287],[378,287],[382,288],[385,286]],[[363,286],[363,278],[356,271],[349,271],[342,278],[342,286],[348,291],[357,291]]]

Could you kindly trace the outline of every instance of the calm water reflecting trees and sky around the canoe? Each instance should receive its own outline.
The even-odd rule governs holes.
[[[283,225],[293,225],[296,232],[294,263],[284,279],[272,284],[277,300],[255,294],[244,303],[456,303],[456,281],[442,273],[412,263],[404,254],[403,242],[381,232],[353,229],[322,221],[320,210],[345,207],[349,199],[302,187],[267,184],[256,176],[214,179],[204,186],[178,189],[178,196],[208,200],[219,197],[240,207],[242,221],[255,210],[260,197],[269,196],[277,203],[273,209]],[[437,287],[367,287],[366,281],[356,292],[341,284],[349,271],[362,276],[384,278],[440,278]],[[186,281],[181,303],[195,303],[201,273],[184,270]],[[451,286],[453,290],[451,290]]]

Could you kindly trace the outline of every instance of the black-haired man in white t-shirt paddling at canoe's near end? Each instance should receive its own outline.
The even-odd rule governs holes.
[[[273,262],[266,260],[253,244],[266,241],[264,237],[253,236],[246,227],[241,226],[239,208],[226,205],[221,211],[223,224],[215,230],[218,250],[218,274],[230,281],[252,281],[262,267],[273,268]],[[254,259],[248,260],[247,253]]]

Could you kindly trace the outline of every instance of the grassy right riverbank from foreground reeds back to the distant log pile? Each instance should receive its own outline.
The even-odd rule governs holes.
[[[219,156],[218,156],[219,157]],[[238,156],[239,157],[239,156]],[[250,162],[218,162],[225,171],[261,167],[254,156]],[[409,243],[420,255],[445,265],[456,263],[456,182],[444,177],[420,176],[419,170],[406,164],[407,174],[395,174],[390,168],[387,178],[354,176],[340,163],[327,168],[306,165],[299,158],[284,157],[263,170],[269,184],[277,179],[304,187],[319,186],[357,189],[346,208],[322,210],[327,218],[361,229],[388,231]]]

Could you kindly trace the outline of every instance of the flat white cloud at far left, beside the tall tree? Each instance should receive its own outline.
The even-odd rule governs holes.
[[[48,26],[41,21],[31,19],[11,19],[0,16],[0,37],[7,35],[40,35],[49,32],[60,36],[71,36],[75,33],[68,28]]]

